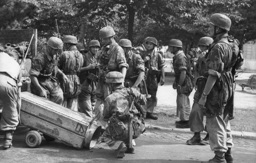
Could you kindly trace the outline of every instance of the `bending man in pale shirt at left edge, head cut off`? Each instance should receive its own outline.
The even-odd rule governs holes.
[[[12,146],[13,132],[19,124],[22,77],[16,54],[0,52],[0,100],[3,102],[0,130],[5,131],[3,148]]]

